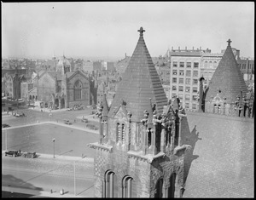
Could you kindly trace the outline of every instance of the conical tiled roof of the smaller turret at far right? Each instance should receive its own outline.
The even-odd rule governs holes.
[[[247,86],[242,77],[235,55],[230,46],[230,39],[227,49],[209,83],[206,100],[211,100],[220,91],[219,96],[226,98],[227,103],[235,102],[237,95],[247,93]]]

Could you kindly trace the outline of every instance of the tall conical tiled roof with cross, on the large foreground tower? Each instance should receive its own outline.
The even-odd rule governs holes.
[[[152,105],[156,104],[157,114],[161,114],[163,106],[167,105],[165,91],[143,39],[143,27],[138,31],[140,31],[140,37],[137,46],[125,69],[109,111],[109,115],[112,115],[113,111],[122,104],[127,111],[131,111],[131,120],[135,122],[143,119],[143,111],[152,111]],[[150,115],[152,116],[152,113],[149,113],[148,117]]]

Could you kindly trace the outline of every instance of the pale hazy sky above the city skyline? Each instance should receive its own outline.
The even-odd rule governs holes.
[[[2,3],[2,56],[131,55],[143,26],[151,56],[231,47],[254,56],[253,2]]]

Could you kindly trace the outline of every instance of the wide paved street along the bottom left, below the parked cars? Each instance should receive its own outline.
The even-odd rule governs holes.
[[[73,195],[75,182],[77,196],[93,197],[93,170],[93,163],[82,158],[74,163],[73,160],[54,158],[2,157],[2,187],[30,189],[38,193],[63,189]]]

